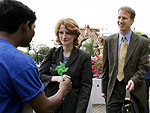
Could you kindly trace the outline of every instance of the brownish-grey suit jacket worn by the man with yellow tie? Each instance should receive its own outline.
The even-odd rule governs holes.
[[[118,34],[114,34],[104,41],[102,92],[107,94],[107,102],[110,100],[118,71],[118,37]],[[146,104],[144,77],[148,68],[148,41],[132,33],[125,59],[124,73],[126,81],[130,79],[134,81],[135,88],[131,95],[141,106]]]

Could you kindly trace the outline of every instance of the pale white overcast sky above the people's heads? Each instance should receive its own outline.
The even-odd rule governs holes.
[[[34,41],[53,46],[55,25],[62,18],[74,19],[79,27],[104,28],[105,32],[118,32],[117,11],[128,5],[136,11],[132,28],[150,34],[149,0],[19,0],[36,12]],[[107,29],[107,30],[106,30]]]

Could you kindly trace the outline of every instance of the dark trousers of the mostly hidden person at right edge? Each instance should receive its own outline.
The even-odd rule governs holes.
[[[145,82],[146,82],[146,93],[147,93],[146,113],[149,113],[149,87],[150,87],[150,79],[145,79]]]

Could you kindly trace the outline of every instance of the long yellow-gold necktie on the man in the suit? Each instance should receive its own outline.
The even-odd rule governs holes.
[[[124,64],[125,64],[125,58],[127,55],[127,41],[125,36],[122,37],[122,43],[121,43],[121,47],[120,47],[120,52],[119,52],[119,61],[118,61],[118,75],[117,75],[117,79],[119,81],[122,81],[124,79]]]

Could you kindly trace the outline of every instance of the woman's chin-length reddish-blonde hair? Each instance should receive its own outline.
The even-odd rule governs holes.
[[[55,35],[57,37],[56,38],[56,42],[59,45],[62,45],[61,42],[60,42],[60,39],[59,39],[59,29],[60,29],[61,25],[64,25],[65,28],[69,32],[71,32],[72,34],[76,35],[76,38],[74,39],[74,46],[78,46],[79,45],[78,39],[79,39],[79,35],[80,35],[80,29],[79,29],[79,26],[76,23],[76,21],[74,21],[71,18],[63,18],[63,19],[61,19],[61,20],[58,21],[58,23],[56,25],[56,29],[55,29]]]

